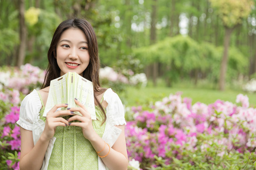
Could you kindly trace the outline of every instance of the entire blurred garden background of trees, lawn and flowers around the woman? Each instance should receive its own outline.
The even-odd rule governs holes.
[[[125,109],[128,170],[256,169],[256,0],[0,0],[0,170],[61,21],[86,18]]]

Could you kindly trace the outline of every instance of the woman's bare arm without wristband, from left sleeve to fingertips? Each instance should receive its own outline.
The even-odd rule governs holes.
[[[44,131],[38,142],[34,146],[31,130],[20,127],[21,150],[20,150],[20,170],[40,170],[44,161],[50,139],[54,136],[57,126],[66,126],[66,119],[58,116],[72,115],[70,111],[57,111],[57,108],[67,107],[65,104],[55,105],[46,117]]]

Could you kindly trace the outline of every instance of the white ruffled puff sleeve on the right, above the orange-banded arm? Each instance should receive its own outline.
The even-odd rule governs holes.
[[[108,103],[106,108],[107,121],[111,125],[126,125],[124,107],[119,96],[111,88],[108,88],[103,98]]]

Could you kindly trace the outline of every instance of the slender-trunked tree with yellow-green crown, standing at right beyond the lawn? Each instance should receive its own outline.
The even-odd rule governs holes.
[[[225,88],[225,77],[227,71],[228,49],[230,36],[233,30],[242,22],[243,18],[248,17],[253,6],[253,0],[209,0],[221,17],[225,28],[224,51],[221,60],[219,77],[219,89]]]

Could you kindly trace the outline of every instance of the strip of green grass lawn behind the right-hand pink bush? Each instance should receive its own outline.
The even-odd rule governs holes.
[[[157,86],[153,87],[149,85],[145,88],[134,88],[128,87],[125,93],[121,94],[121,98],[127,106],[138,106],[147,105],[150,102],[156,102],[162,100],[164,97],[177,92],[182,92],[182,97],[189,97],[192,99],[192,104],[196,102],[203,102],[210,104],[215,102],[217,99],[236,103],[236,96],[238,94],[246,94],[249,97],[251,107],[256,107],[256,94],[250,94],[242,90],[230,90],[218,91],[210,88],[195,88],[195,87],[184,87],[175,85],[172,88]]]

